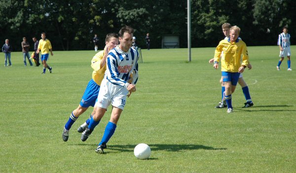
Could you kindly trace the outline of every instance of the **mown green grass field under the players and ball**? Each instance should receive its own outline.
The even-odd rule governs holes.
[[[254,107],[242,109],[241,87],[232,95],[234,112],[214,109],[221,99],[221,71],[208,60],[215,48],[142,50],[137,92],[128,99],[115,134],[97,154],[110,110],[86,142],[63,126],[91,79],[94,51],[54,52],[42,67],[0,66],[0,173],[295,173],[296,46],[276,70],[279,48],[248,47],[252,70],[244,72]],[[1,54],[3,56],[3,54]],[[3,58],[2,58],[3,60]],[[3,61],[2,61],[3,62]],[[151,147],[137,160],[136,144]]]

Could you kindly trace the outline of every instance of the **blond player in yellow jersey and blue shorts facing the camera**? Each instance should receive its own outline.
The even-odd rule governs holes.
[[[227,103],[227,113],[233,112],[231,103],[231,93],[235,91],[239,75],[249,64],[249,55],[246,43],[238,39],[240,28],[233,26],[230,28],[230,37],[220,41],[215,51],[214,68],[217,69],[221,58],[222,78],[225,84],[225,101]],[[223,54],[222,54],[223,52]],[[222,54],[222,57],[220,57]],[[243,55],[241,63],[241,55]]]

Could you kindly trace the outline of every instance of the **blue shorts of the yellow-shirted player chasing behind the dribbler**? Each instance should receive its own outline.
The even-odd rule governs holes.
[[[100,86],[95,83],[93,79],[91,79],[84,91],[82,99],[80,101],[80,106],[84,108],[88,108],[90,106],[94,107],[96,103],[96,99],[98,98]]]

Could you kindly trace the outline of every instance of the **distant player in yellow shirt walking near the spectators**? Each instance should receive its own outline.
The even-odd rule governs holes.
[[[41,74],[45,74],[46,68],[48,68],[48,71],[51,73],[52,68],[46,63],[46,61],[48,59],[49,52],[51,56],[53,56],[53,53],[51,43],[48,39],[46,39],[45,32],[41,33],[41,40],[39,41],[36,54],[39,54],[39,51],[41,51],[41,61],[43,63],[43,72]]]

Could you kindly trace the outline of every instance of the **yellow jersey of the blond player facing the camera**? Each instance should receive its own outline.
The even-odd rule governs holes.
[[[222,54],[223,52],[223,54]],[[222,54],[222,56],[221,56]],[[241,63],[241,55],[242,63]],[[221,40],[215,50],[214,61],[220,61],[221,56],[221,71],[238,72],[239,67],[249,64],[249,55],[246,43],[241,39],[236,39],[231,43],[230,39]]]

